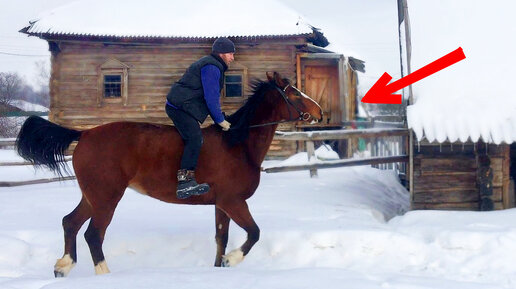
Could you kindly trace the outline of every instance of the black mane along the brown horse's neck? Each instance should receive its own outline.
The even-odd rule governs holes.
[[[288,79],[284,79],[285,83],[289,83]],[[276,88],[276,83],[272,81],[261,81],[255,79],[251,83],[252,95],[247,99],[245,104],[235,113],[228,116],[227,120],[231,123],[231,129],[225,133],[225,138],[230,146],[242,143],[249,136],[249,126],[253,119],[256,108],[263,102],[264,95],[267,91]]]

